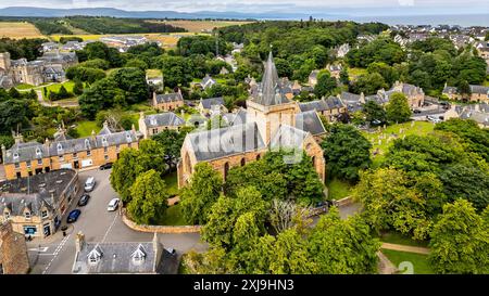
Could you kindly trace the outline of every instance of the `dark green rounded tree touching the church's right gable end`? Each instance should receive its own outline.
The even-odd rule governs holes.
[[[356,181],[360,170],[372,164],[371,142],[352,126],[334,125],[321,146],[331,177]]]

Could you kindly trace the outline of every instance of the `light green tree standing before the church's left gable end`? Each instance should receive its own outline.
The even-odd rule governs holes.
[[[190,183],[181,192],[181,210],[189,223],[204,224],[220,197],[223,179],[208,163],[193,167]]]

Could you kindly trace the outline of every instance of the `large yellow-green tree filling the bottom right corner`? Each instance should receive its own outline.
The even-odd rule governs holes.
[[[438,273],[489,273],[489,224],[467,201],[443,206],[429,246]]]

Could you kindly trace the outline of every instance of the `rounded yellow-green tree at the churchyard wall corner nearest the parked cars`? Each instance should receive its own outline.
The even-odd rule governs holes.
[[[130,186],[131,200],[127,211],[137,223],[150,224],[158,221],[167,207],[168,193],[165,181],[154,169],[142,172]]]

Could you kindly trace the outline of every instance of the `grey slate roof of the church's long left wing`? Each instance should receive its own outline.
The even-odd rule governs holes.
[[[188,133],[198,162],[265,147],[255,123]]]

